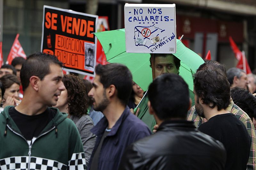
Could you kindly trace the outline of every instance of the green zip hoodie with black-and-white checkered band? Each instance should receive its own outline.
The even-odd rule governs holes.
[[[30,144],[5,107],[0,114],[0,169],[86,169],[79,132],[66,113],[56,116]]]

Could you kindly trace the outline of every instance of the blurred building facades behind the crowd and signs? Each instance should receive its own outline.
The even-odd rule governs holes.
[[[40,51],[43,6],[108,16],[110,30],[124,28],[124,4],[176,4],[177,37],[202,57],[211,50],[212,60],[235,67],[231,36],[244,50],[251,69],[256,68],[255,0],[0,0],[0,41],[6,60],[19,33],[27,55]]]

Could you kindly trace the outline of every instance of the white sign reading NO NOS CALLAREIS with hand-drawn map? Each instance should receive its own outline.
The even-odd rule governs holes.
[[[176,53],[175,4],[125,4],[127,53]]]

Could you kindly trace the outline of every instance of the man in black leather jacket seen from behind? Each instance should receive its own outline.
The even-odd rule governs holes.
[[[148,89],[149,113],[158,131],[127,148],[119,169],[224,169],[223,145],[186,121],[190,108],[188,85],[177,74],[156,78]]]

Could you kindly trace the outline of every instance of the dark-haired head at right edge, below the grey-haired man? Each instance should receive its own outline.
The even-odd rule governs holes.
[[[243,88],[234,87],[230,89],[230,96],[233,102],[252,119],[253,115],[256,114],[256,98],[252,93]]]

